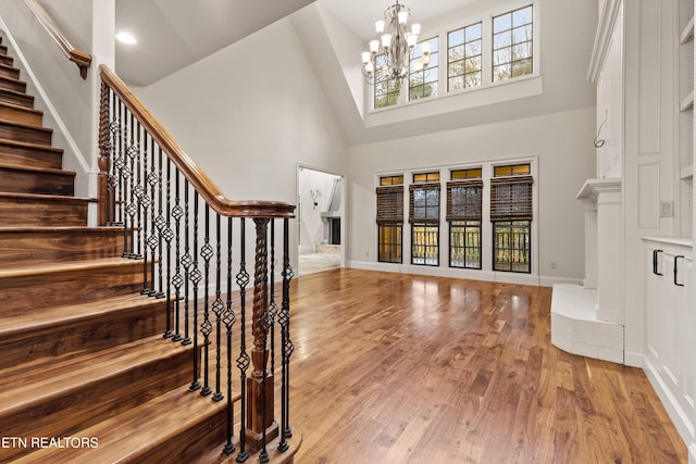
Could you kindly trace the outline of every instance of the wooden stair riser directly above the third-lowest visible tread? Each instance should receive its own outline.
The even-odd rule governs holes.
[[[139,292],[142,262],[0,279],[0,316]]]

